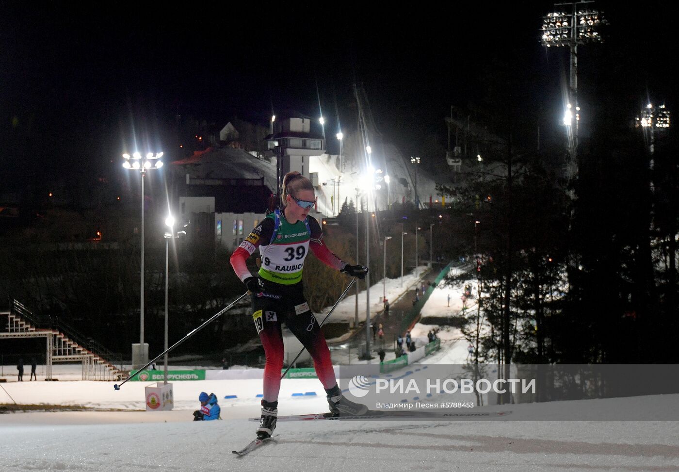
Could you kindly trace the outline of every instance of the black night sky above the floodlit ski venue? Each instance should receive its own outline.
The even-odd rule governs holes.
[[[405,155],[429,134],[445,145],[451,105],[497,111],[528,128],[558,121],[566,51],[545,50],[538,31],[551,2],[168,4],[3,2],[3,162],[30,160],[29,173],[45,179],[120,158],[132,128],[163,147],[177,114],[266,125],[272,107],[318,116],[318,96],[334,135],[337,115],[355,124],[354,81],[385,141]],[[647,91],[676,112],[677,7],[596,5],[610,26],[606,43],[581,49],[581,102],[592,119],[626,126]]]

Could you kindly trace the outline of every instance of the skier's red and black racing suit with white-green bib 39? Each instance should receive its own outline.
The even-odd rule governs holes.
[[[264,347],[266,363],[263,378],[263,400],[278,401],[280,373],[283,367],[281,325],[308,350],[314,360],[316,375],[327,390],[337,385],[323,332],[304,297],[301,276],[309,249],[324,264],[342,270],[346,262],[323,244],[323,232],[312,216],[305,221],[288,223],[282,211],[270,213],[253,229],[234,251],[230,262],[241,281],[252,276],[246,259],[259,247],[261,268],[258,276],[261,291],[253,293],[253,321]]]

